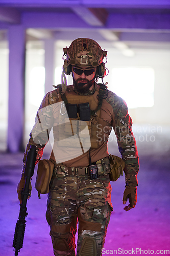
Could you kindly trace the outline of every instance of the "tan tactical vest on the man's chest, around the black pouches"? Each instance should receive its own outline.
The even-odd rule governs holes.
[[[58,89],[57,89],[58,90]],[[111,124],[108,125],[106,121],[100,118],[99,109],[96,113],[95,110],[98,109],[99,104],[99,90],[100,86],[98,86],[94,92],[94,94],[90,95],[79,95],[73,90],[68,90],[65,92],[65,96],[69,104],[81,104],[88,102],[90,105],[90,120],[82,121],[78,115],[77,118],[68,118],[65,117],[66,109],[64,104],[62,103],[63,99],[61,94],[59,93],[58,102],[61,102],[60,105],[60,114],[59,114],[59,122],[62,123],[58,126],[53,127],[54,138],[58,139],[58,145],[60,146],[70,146],[77,147],[79,143],[83,142],[84,145],[91,144],[91,148],[98,148],[102,141],[108,141],[108,137],[111,132]],[[88,130],[87,130],[87,127]],[[85,129],[86,128],[86,129]],[[79,135],[79,141],[74,141],[74,135]],[[72,137],[72,140],[70,140]],[[69,138],[69,140],[67,140]],[[68,142],[69,141],[69,142]],[[80,146],[80,144],[79,144]]]

